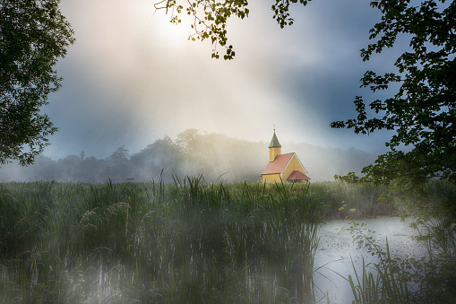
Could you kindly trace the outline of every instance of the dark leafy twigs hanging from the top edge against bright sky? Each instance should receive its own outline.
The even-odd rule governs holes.
[[[285,25],[293,24],[293,19],[288,13],[289,4],[307,4],[304,0],[275,0],[271,9],[274,12],[273,18],[280,24],[280,28]],[[165,10],[170,13],[169,21],[175,24],[182,22],[181,14],[186,13],[193,18],[190,25],[193,34],[189,40],[211,40],[212,58],[219,59],[217,47],[225,48],[225,60],[231,60],[236,55],[233,46],[228,44],[227,23],[230,17],[244,19],[248,17],[249,9],[247,0],[226,0],[218,2],[216,0],[196,0],[179,1],[163,0],[154,4],[155,10]]]

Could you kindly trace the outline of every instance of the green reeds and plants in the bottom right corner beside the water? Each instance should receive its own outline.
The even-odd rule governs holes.
[[[388,239],[383,249],[365,233],[363,225],[353,223],[350,232],[359,246],[378,256],[378,262],[363,265],[355,278],[348,275],[355,303],[453,303],[456,299],[456,243],[454,227],[449,229],[442,219],[430,220],[421,227],[428,232],[418,238],[426,244],[427,256],[415,260],[391,256]],[[444,234],[434,234],[435,231]],[[373,266],[371,270],[369,266]]]

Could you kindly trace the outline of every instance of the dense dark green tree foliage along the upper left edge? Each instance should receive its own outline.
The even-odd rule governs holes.
[[[0,0],[0,164],[30,164],[56,132],[41,108],[58,90],[57,59],[73,44],[60,0]]]

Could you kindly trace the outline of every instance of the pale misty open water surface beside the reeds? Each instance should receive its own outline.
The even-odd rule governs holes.
[[[362,269],[363,257],[366,265],[378,261],[366,248],[358,248],[357,241],[353,241],[349,230],[344,230],[351,226],[350,223],[353,221],[366,223],[366,233],[367,230],[375,231],[369,236],[373,236],[382,248],[385,248],[388,237],[392,257],[419,258],[426,255],[426,248],[411,239],[411,236],[417,235],[417,230],[409,227],[409,221],[402,222],[397,217],[389,216],[365,220],[327,221],[321,227],[320,243],[314,258],[314,267],[318,269],[314,275],[314,282],[320,289],[317,300],[328,292],[331,303],[351,303],[354,298],[350,286],[340,275],[345,278],[348,278],[348,274],[354,275],[352,260],[359,271]],[[322,301],[325,303],[326,299]]]

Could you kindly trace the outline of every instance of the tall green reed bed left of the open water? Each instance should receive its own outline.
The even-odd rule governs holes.
[[[313,302],[301,185],[0,186],[0,302]]]

